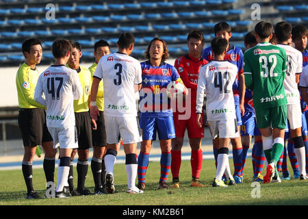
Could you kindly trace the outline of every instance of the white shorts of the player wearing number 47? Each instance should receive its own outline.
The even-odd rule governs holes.
[[[77,133],[75,126],[53,128],[48,127],[49,133],[53,137],[53,148],[56,149],[77,149]]]

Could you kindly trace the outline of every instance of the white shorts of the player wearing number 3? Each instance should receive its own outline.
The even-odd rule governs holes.
[[[137,116],[106,116],[106,139],[108,144],[117,144],[122,138],[123,144],[142,142],[141,129]]]

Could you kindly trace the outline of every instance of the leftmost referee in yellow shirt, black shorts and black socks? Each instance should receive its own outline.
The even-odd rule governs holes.
[[[34,89],[40,74],[36,64],[42,59],[42,42],[36,38],[29,38],[22,45],[25,62],[18,68],[16,74],[16,88],[18,94],[18,126],[23,136],[23,177],[27,185],[26,198],[40,198],[33,187],[32,162],[36,154],[36,146],[44,148],[43,168],[47,182],[52,181],[55,171],[55,153],[53,138],[47,129],[46,112],[43,105],[34,100]]]

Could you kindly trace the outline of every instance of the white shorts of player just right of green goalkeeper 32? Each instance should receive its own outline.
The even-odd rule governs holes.
[[[290,129],[302,127],[302,110],[299,103],[287,105],[287,120],[289,120]]]

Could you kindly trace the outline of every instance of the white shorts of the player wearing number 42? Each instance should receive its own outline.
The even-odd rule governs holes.
[[[219,138],[238,138],[238,122],[236,118],[229,120],[209,120],[209,129],[213,139]]]

